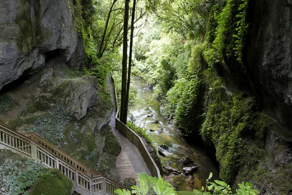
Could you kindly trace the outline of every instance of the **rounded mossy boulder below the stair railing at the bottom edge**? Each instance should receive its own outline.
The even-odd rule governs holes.
[[[72,195],[72,181],[57,169],[51,173],[37,180],[30,195]]]

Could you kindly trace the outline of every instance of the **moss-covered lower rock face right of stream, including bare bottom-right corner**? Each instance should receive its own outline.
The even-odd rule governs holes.
[[[206,145],[215,146],[220,178],[230,184],[254,182],[262,193],[290,192],[291,132],[256,112],[254,98],[238,91],[227,92],[213,70],[204,74],[208,86],[201,135]],[[281,184],[279,176],[284,177]]]

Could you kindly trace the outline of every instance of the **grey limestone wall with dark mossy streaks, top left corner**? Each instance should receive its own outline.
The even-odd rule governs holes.
[[[70,67],[83,66],[71,7],[72,0],[1,0],[0,89],[39,71],[50,51]]]

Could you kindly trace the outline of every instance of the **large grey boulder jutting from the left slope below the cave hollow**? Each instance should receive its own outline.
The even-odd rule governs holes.
[[[67,114],[80,120],[87,109],[95,105],[97,79],[85,75],[82,78],[65,79],[53,89],[53,96],[65,105]]]

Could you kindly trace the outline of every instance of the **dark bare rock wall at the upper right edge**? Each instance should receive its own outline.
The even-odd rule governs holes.
[[[292,121],[292,1],[250,2],[246,69],[264,109],[285,127]]]

